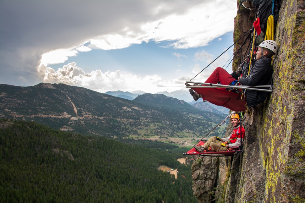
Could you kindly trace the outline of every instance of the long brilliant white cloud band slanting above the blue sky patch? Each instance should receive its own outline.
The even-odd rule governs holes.
[[[208,43],[234,28],[236,5],[231,2],[208,1],[190,8],[184,14],[173,14],[163,19],[148,22],[140,27],[125,27],[123,32],[100,35],[88,40],[87,47],[80,46],[78,51],[91,51],[92,48],[103,50],[122,49],[133,44],[155,41],[175,41],[168,44],[171,48],[190,48],[206,46]],[[215,12],[215,6],[217,11]],[[161,9],[161,7],[160,7]],[[164,8],[163,8],[164,9]],[[221,12],[227,16],[219,15]],[[206,29],[208,28],[208,29]],[[219,38],[218,40],[221,40]],[[75,50],[55,50],[43,54],[42,64],[63,63],[68,57],[75,56]],[[72,54],[73,53],[73,54]],[[173,54],[175,55],[175,54]],[[178,59],[185,55],[175,55]]]

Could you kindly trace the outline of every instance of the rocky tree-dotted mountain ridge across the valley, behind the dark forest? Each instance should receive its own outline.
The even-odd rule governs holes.
[[[127,100],[64,84],[0,85],[0,117],[109,137],[198,137],[225,115],[164,94]]]

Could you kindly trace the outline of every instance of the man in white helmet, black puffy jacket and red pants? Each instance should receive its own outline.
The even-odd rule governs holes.
[[[237,85],[244,86],[260,86],[271,85],[272,65],[271,57],[278,51],[278,45],[273,40],[265,40],[258,46],[256,52],[256,62],[251,68],[247,77],[241,77],[236,81],[227,71],[218,67],[205,81],[206,83],[217,84],[220,82],[223,85]],[[194,100],[198,100],[200,95],[190,89],[190,93]],[[246,90],[246,100],[248,107],[254,107],[259,103],[264,102],[267,97],[267,92]]]

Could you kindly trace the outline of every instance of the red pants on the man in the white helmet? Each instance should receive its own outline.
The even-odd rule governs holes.
[[[206,80],[206,83],[217,84],[220,82],[222,85],[229,85],[231,82],[236,80],[226,70],[221,67],[216,68],[210,77]]]

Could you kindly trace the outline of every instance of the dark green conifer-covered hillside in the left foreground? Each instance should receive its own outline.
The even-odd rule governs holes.
[[[181,149],[173,145],[6,119],[0,143],[1,202],[197,202],[191,165],[180,165]],[[178,178],[160,165],[178,167]]]

